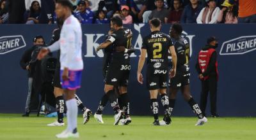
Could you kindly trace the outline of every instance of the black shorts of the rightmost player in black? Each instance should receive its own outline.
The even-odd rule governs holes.
[[[175,77],[170,78],[168,86],[170,88],[179,89],[180,87],[184,87],[189,85],[189,74],[176,74]]]

